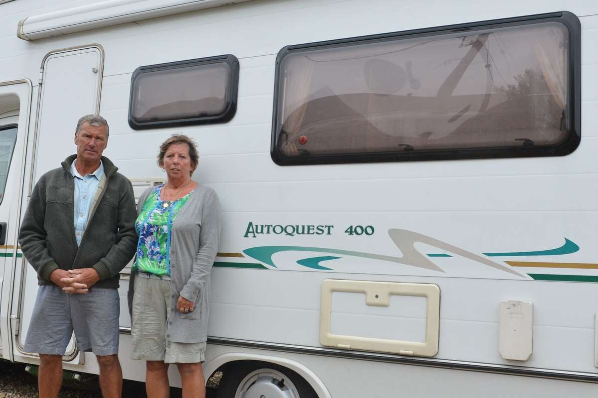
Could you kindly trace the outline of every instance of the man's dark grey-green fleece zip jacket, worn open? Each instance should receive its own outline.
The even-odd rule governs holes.
[[[81,245],[75,239],[75,183],[71,155],[62,167],[48,171],[33,188],[19,243],[29,264],[38,273],[38,285],[52,285],[56,269],[93,267],[100,280],[97,288],[118,288],[120,270],[135,254],[135,196],[130,181],[102,156],[105,177],[91,203],[89,221]]]

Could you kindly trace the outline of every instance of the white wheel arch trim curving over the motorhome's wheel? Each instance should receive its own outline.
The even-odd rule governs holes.
[[[214,357],[209,362],[206,362],[203,366],[204,374],[207,377],[213,374],[213,372],[217,371],[224,365],[227,365],[231,362],[239,362],[239,361],[261,361],[261,362],[270,362],[276,365],[284,366],[285,368],[291,369],[298,375],[304,378],[305,381],[313,388],[316,394],[318,394],[319,398],[332,398],[331,394],[326,388],[326,385],[322,380],[315,374],[311,369],[307,368],[307,366],[303,365],[303,363],[297,362],[296,360],[278,357],[278,356],[271,356],[271,355],[263,355],[263,354],[249,354],[249,353],[225,353],[219,356]]]

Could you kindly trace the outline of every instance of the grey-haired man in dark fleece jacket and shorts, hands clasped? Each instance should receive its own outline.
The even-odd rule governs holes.
[[[77,155],[42,175],[19,234],[38,273],[38,295],[25,350],[39,353],[39,397],[56,398],[62,356],[72,332],[80,351],[93,351],[105,398],[120,398],[119,272],[135,253],[135,199],[126,177],[102,152],[108,123],[79,119]]]

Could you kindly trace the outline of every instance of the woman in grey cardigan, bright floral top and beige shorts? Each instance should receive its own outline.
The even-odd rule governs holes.
[[[183,397],[205,397],[210,279],[221,214],[216,193],[191,180],[196,144],[173,135],[160,146],[167,182],[146,190],[137,205],[139,234],[129,283],[132,358],[146,361],[149,398],[169,396],[168,366],[176,363]]]

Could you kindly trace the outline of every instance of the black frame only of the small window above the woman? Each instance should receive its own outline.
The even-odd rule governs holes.
[[[157,72],[160,70],[168,69],[179,69],[191,66],[202,66],[216,63],[226,63],[230,67],[230,90],[228,90],[227,97],[225,100],[228,106],[219,115],[212,116],[199,116],[196,118],[184,118],[184,119],[169,119],[167,121],[151,121],[151,122],[139,122],[133,118],[133,89],[135,88],[135,80],[139,76],[148,72]],[[237,93],[239,91],[239,60],[233,54],[218,55],[216,57],[206,58],[195,58],[192,60],[167,62],[161,64],[140,66],[135,69],[131,76],[131,88],[129,92],[129,126],[135,130],[148,129],[148,128],[160,128],[160,127],[175,127],[175,126],[188,126],[188,125],[201,125],[201,124],[216,124],[226,123],[230,121],[237,111]]]

